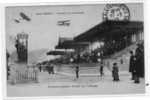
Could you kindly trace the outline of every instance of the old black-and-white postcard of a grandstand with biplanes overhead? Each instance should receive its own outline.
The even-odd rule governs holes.
[[[143,6],[6,6],[6,96],[144,94]]]

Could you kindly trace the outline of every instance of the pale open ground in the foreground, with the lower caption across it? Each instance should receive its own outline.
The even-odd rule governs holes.
[[[75,74],[72,71],[69,73],[69,70],[66,72],[56,72],[54,75],[49,75],[47,72],[40,72],[38,83],[8,84],[7,95],[9,97],[30,97],[86,94],[137,94],[144,93],[145,91],[144,79],[140,79],[141,82],[135,84],[130,79],[130,74],[122,71],[120,72],[120,81],[113,82],[111,72],[106,68],[103,77],[100,77],[99,73],[92,73],[93,70],[81,71],[79,79],[75,78]]]

